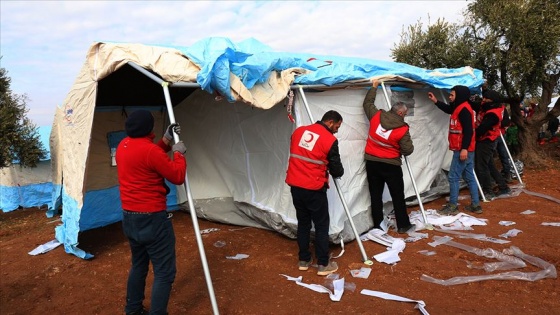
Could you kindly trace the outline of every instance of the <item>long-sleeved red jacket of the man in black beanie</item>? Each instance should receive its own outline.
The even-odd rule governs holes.
[[[187,162],[179,153],[173,160],[171,149],[163,140],[153,143],[154,134],[141,138],[124,138],[116,152],[117,174],[122,207],[137,212],[158,212],[167,209],[164,179],[175,185],[185,182]]]

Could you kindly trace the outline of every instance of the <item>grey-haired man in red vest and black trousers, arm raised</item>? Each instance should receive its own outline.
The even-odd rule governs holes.
[[[371,198],[373,228],[380,229],[381,222],[383,222],[382,196],[385,184],[387,184],[395,209],[397,232],[414,232],[416,226],[410,224],[406,212],[401,167],[401,156],[410,155],[414,151],[408,125],[404,122],[408,108],[404,103],[397,102],[391,106],[390,111],[379,110],[374,104],[378,86],[379,82],[374,80],[372,88],[366,94],[363,102],[364,111],[370,123],[364,159],[366,160]]]

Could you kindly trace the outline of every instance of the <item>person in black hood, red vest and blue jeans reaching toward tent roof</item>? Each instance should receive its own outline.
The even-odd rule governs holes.
[[[438,101],[434,93],[428,92],[428,98],[449,118],[449,150],[453,151],[449,167],[449,202],[438,211],[443,215],[454,215],[459,212],[459,181],[465,179],[471,194],[471,204],[465,210],[477,214],[482,213],[478,199],[478,187],[474,175],[474,112],[469,104],[470,91],[463,85],[456,85],[449,93],[449,105]]]

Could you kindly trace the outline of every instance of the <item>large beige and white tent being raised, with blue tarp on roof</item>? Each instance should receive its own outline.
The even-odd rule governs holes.
[[[77,247],[79,232],[121,220],[112,148],[123,137],[127,113],[138,108],[152,111],[156,137],[161,136],[169,123],[166,100],[174,106],[187,145],[197,216],[294,237],[295,209],[284,182],[289,139],[296,126],[311,123],[303,95],[292,98],[289,93],[296,86],[307,91],[314,120],[330,109],[344,118],[337,134],[345,167],[340,184],[357,229],[366,231],[372,223],[362,101],[363,86],[372,77],[401,82],[393,84],[388,96],[413,107],[407,117],[416,148],[410,161],[419,190],[427,191],[445,167],[449,117],[426,94],[454,85],[476,90],[483,83],[479,70],[425,70],[387,61],[274,52],[254,39],[233,43],[208,38],[187,48],[94,43],[53,124],[50,214],[61,203],[63,209],[56,238],[67,252],[89,258]],[[379,93],[376,103],[386,108]],[[291,99],[296,123],[288,118]],[[407,176],[405,185],[406,196],[413,196]],[[168,206],[185,201],[183,187],[173,187]],[[334,189],[329,190],[329,204],[331,239],[353,239]]]

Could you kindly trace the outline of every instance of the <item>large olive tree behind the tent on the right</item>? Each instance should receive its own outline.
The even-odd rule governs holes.
[[[426,29],[409,26],[392,50],[395,61],[424,68],[472,66],[487,85],[510,103],[519,126],[521,158],[539,164],[537,135],[560,102],[547,105],[560,89],[560,2],[555,0],[477,0],[467,6],[460,24],[443,19]],[[443,47],[442,47],[443,46]],[[524,99],[535,99],[533,116],[520,115]]]

